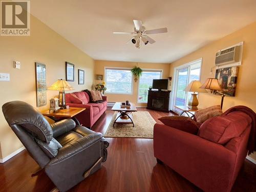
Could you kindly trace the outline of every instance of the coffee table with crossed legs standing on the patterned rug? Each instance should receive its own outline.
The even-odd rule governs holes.
[[[131,104],[130,108],[121,108],[120,102],[116,102],[114,104],[114,106],[111,110],[117,111],[118,113],[117,113],[116,120],[115,120],[113,126],[115,125],[115,123],[123,123],[123,124],[132,123],[134,126],[132,112],[136,112],[137,108],[133,103],[130,103],[130,104]]]

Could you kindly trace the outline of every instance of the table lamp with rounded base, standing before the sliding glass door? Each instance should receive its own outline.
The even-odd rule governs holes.
[[[197,105],[199,104],[198,99],[197,99],[197,93],[196,92],[201,92],[201,93],[207,93],[205,89],[200,89],[199,87],[202,86],[202,83],[198,80],[193,80],[191,81],[188,86],[184,89],[184,91],[187,92],[194,92],[191,93],[191,97],[188,101],[188,108],[191,110],[197,110]]]

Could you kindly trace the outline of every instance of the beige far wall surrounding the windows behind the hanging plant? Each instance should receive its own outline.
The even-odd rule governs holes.
[[[143,69],[157,69],[163,70],[162,78],[169,77],[169,65],[165,63],[138,63],[139,67]],[[122,68],[133,68],[136,66],[136,62],[122,62],[122,61],[103,61],[96,60],[95,61],[95,74],[103,75],[104,80],[104,67],[122,67]],[[95,83],[100,82],[99,80],[95,80]],[[108,88],[108,87],[107,87]],[[108,101],[110,102],[121,102],[125,100],[129,100],[130,102],[135,103],[136,106],[146,106],[146,103],[138,103],[138,81],[133,81],[133,94],[104,94],[108,96]]]

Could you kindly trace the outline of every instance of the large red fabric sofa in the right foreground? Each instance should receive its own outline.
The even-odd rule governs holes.
[[[196,134],[156,123],[154,155],[204,191],[230,191],[247,155],[253,122],[255,113],[230,110],[205,121]]]

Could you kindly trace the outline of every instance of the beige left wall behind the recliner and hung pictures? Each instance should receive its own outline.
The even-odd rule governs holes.
[[[13,61],[21,62],[21,69],[13,68]],[[76,91],[91,89],[94,83],[94,60],[77,49],[65,38],[31,16],[31,36],[0,36],[0,72],[10,73],[10,81],[0,81],[0,106],[8,101],[23,100],[36,106],[35,64],[41,62],[47,69],[47,87],[57,79],[65,79],[65,61],[75,65],[75,81],[70,82]],[[86,71],[86,84],[78,85],[78,69]],[[47,100],[57,95],[57,91],[47,91]],[[38,108],[44,111],[46,106]],[[2,110],[0,112],[1,155],[4,158],[22,147],[11,131]]]

